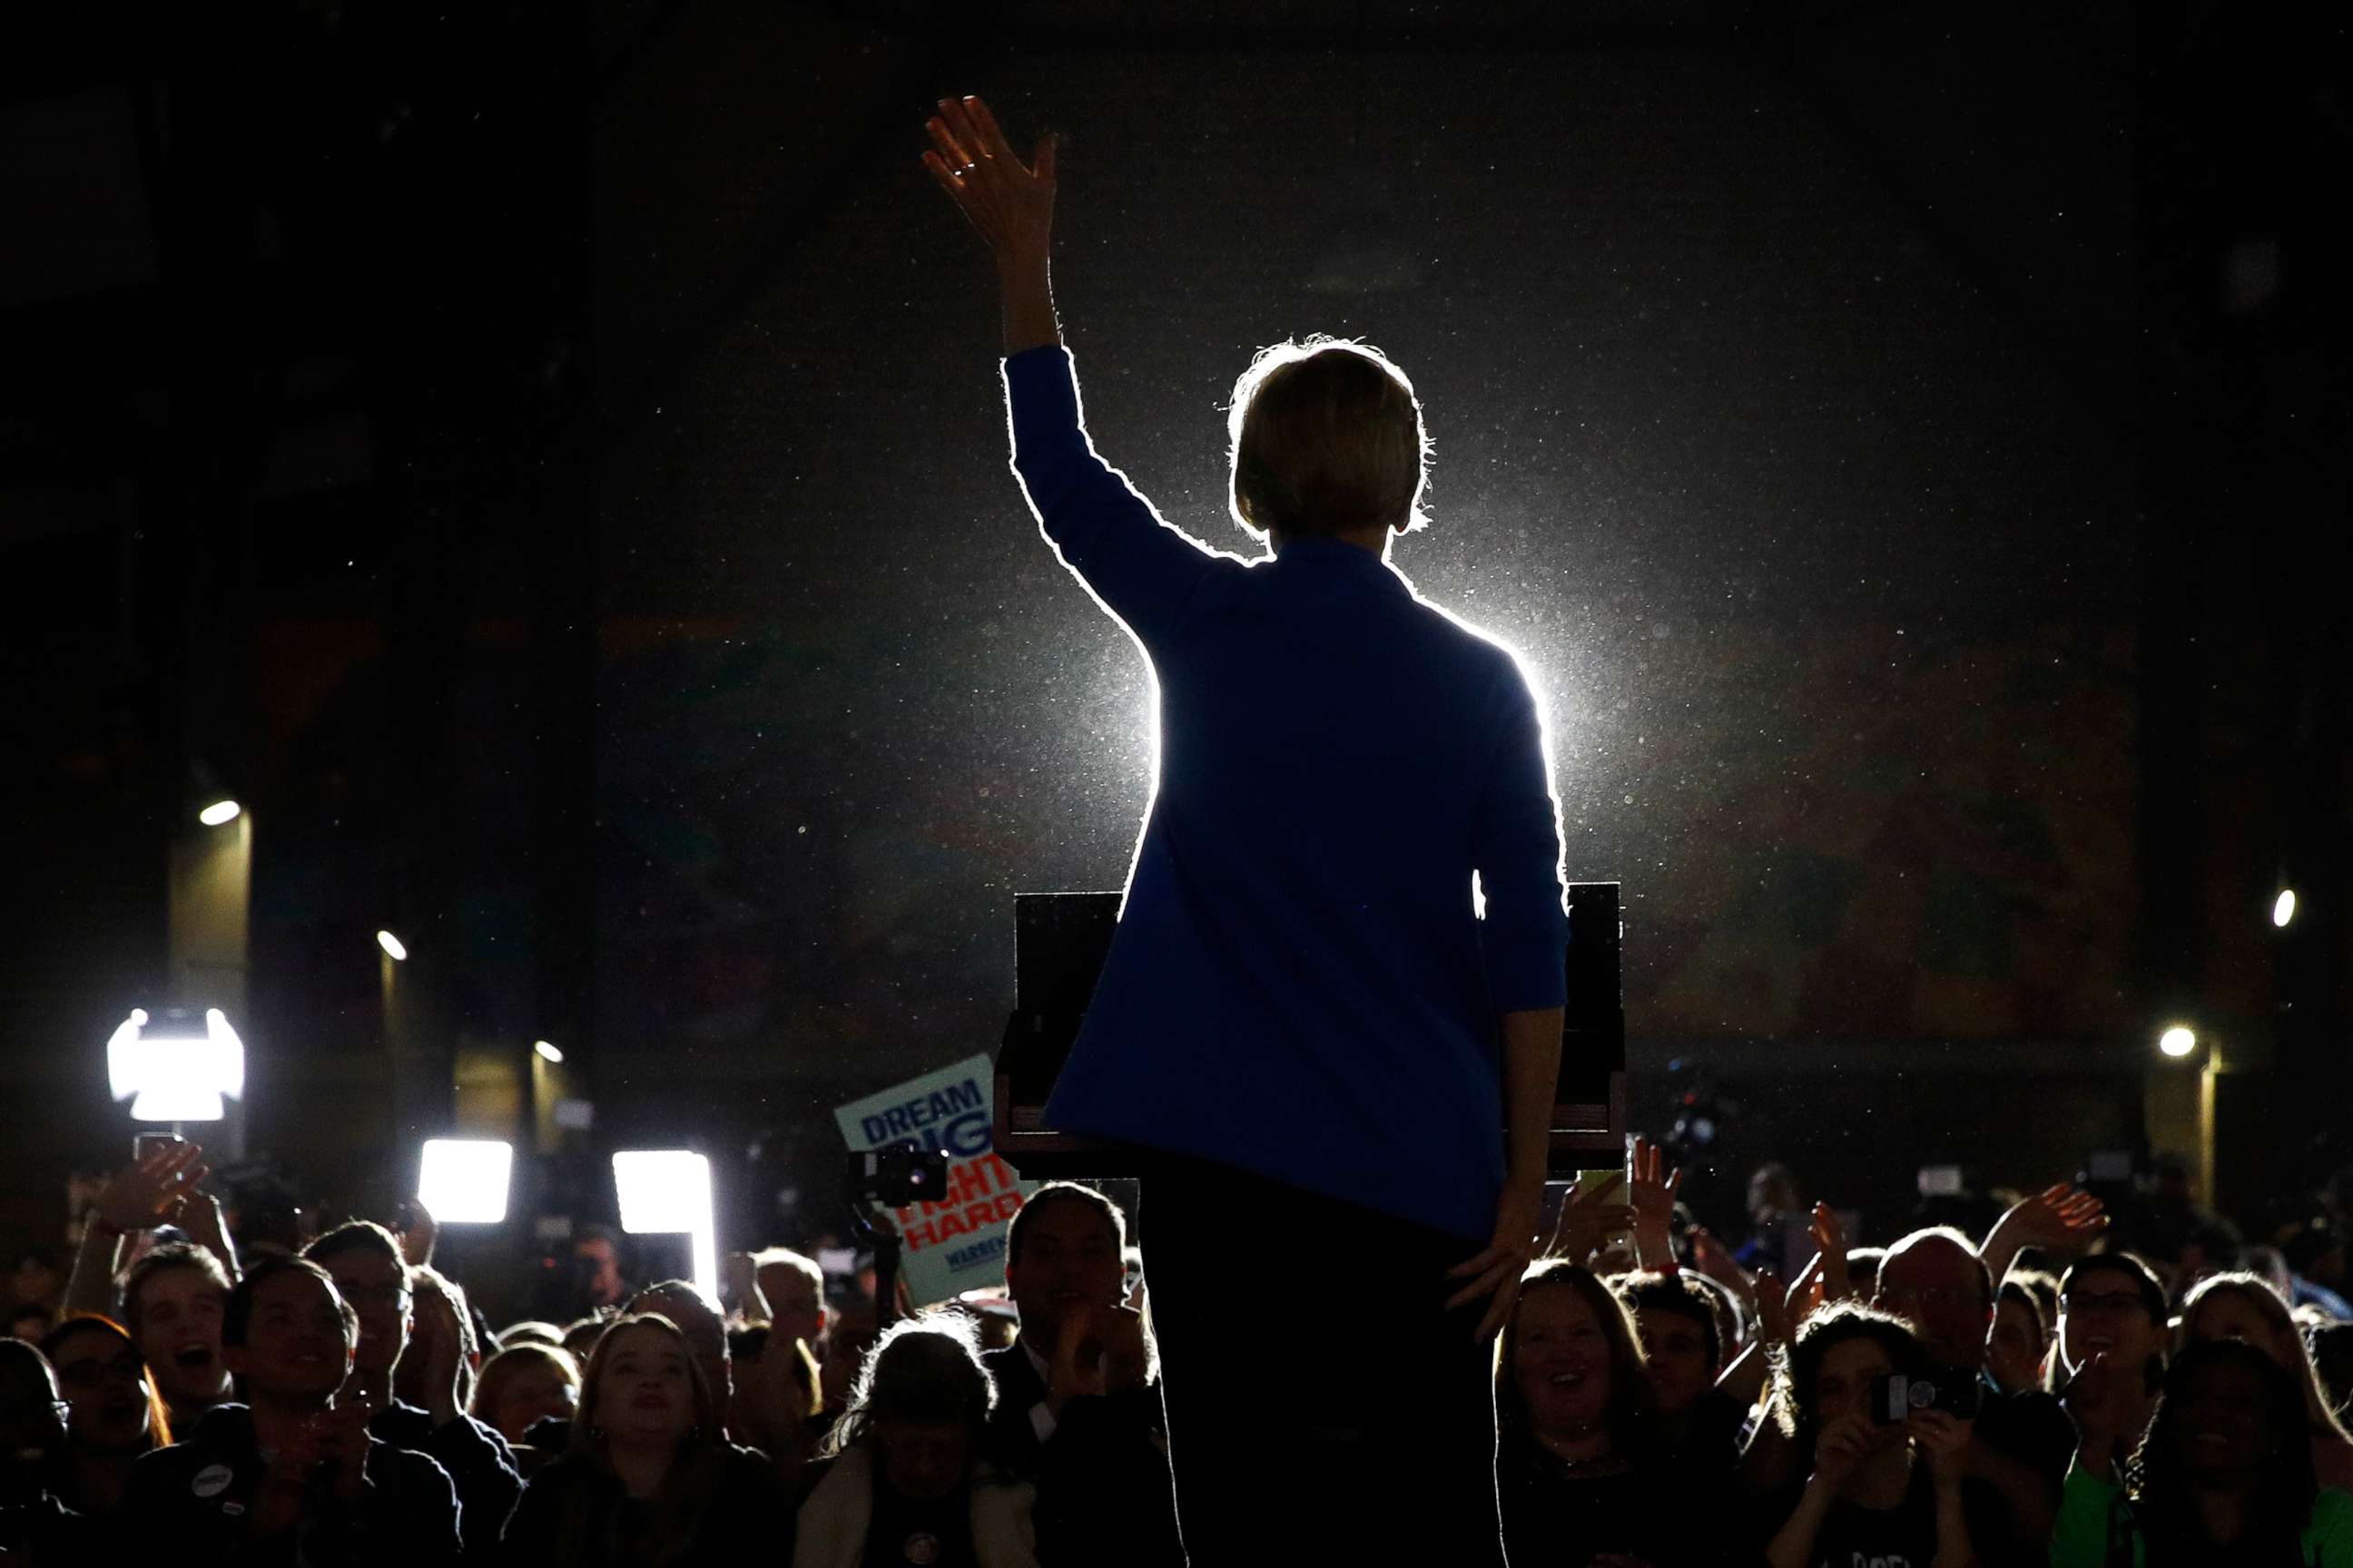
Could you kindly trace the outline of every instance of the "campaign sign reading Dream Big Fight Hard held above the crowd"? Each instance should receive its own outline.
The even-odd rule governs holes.
[[[918,1307],[1000,1284],[1007,1222],[1038,1190],[995,1152],[993,1081],[991,1060],[974,1056],[833,1112],[854,1154],[908,1140],[948,1154],[946,1192],[936,1201],[892,1211],[899,1220],[899,1272]]]

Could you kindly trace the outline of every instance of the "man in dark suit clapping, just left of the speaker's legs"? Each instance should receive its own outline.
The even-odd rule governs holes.
[[[1021,1335],[981,1356],[998,1385],[988,1458],[1038,1483],[1042,1561],[1184,1563],[1151,1335],[1122,1300],[1127,1218],[1094,1187],[1047,1182],[1005,1239]],[[1061,1552],[1056,1554],[1056,1547]]]

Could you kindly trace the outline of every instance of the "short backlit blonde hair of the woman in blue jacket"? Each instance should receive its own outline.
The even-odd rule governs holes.
[[[1261,348],[1226,409],[1233,520],[1268,534],[1428,527],[1431,435],[1388,355],[1322,331]]]

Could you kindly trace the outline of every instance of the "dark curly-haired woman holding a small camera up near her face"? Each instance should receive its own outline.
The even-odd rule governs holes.
[[[1889,1420],[1875,1401],[1897,1375],[1932,1368],[1894,1314],[1835,1305],[1798,1331],[1777,1403],[1807,1479],[1767,1512],[1772,1568],[1962,1568],[1977,1561],[1974,1540],[1998,1540],[2000,1495],[1962,1479],[1972,1422],[1908,1406]]]

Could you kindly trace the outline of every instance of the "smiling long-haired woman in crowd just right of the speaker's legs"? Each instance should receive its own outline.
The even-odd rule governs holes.
[[[1689,1486],[1649,1443],[1633,1316],[1584,1265],[1548,1258],[1522,1274],[1494,1347],[1494,1413],[1513,1563],[1722,1561],[1720,1509],[1692,1509]]]

